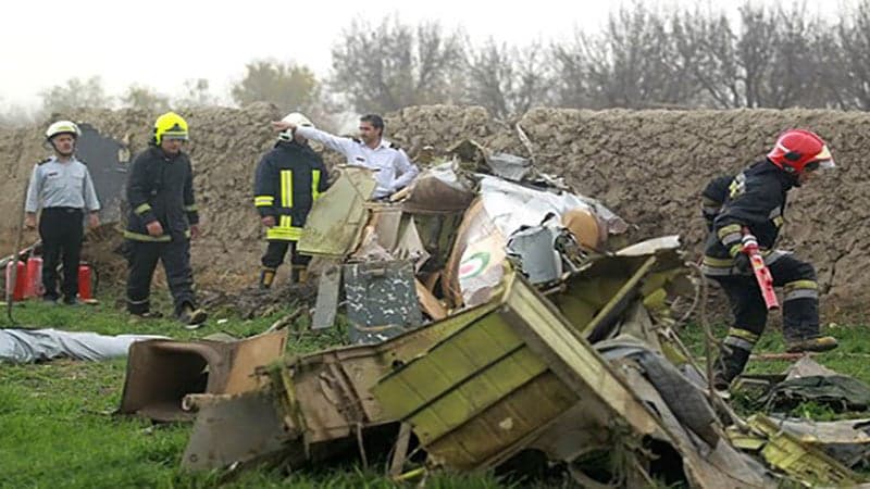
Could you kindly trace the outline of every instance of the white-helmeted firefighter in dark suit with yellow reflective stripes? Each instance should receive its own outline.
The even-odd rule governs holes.
[[[284,121],[297,127],[313,127],[302,114],[291,113]],[[253,201],[260,221],[266,227],[269,247],[260,271],[260,288],[268,289],[275,279],[284,255],[290,252],[291,281],[306,279],[306,267],[311,260],[296,252],[296,242],[302,234],[311,205],[327,188],[327,174],[323,161],[306,138],[294,129],[278,135],[278,142],[263,155],[257,165]]]

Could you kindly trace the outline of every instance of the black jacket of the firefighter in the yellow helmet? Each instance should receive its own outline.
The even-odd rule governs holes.
[[[127,179],[129,218],[124,237],[137,241],[171,241],[190,237],[199,223],[194,201],[190,159],[179,152],[167,155],[156,146],[139,153]],[[146,225],[159,221],[162,236],[150,236]]]

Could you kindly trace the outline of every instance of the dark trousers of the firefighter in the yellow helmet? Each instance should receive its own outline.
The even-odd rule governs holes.
[[[157,262],[163,263],[166,281],[175,305],[175,314],[185,303],[196,306],[194,300],[194,272],[190,269],[190,241],[173,238],[169,242],[148,242],[128,239],[127,247],[127,311],[133,314],[150,310],[151,278]]]

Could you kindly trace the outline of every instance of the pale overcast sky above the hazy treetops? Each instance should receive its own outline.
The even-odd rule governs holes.
[[[595,30],[621,3],[631,4],[607,0],[13,0],[2,8],[0,109],[36,105],[46,88],[95,75],[112,96],[138,84],[175,97],[182,95],[185,80],[192,78],[209,79],[212,92],[226,96],[228,87],[243,77],[245,64],[261,59],[291,60],[324,77],[331,47],[355,18],[374,24],[397,14],[410,24],[439,21],[447,29],[464,28],[474,42],[493,37],[523,46],[536,39],[568,38],[575,27]],[[701,4],[735,13],[743,2],[645,3]],[[810,11],[824,15],[850,4],[848,0],[810,3]]]

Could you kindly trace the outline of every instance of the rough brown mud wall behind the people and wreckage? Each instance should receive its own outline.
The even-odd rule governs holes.
[[[190,124],[188,149],[204,229],[192,249],[197,281],[241,290],[256,281],[264,247],[253,210],[252,174],[275,138],[269,122],[282,114],[269,104],[181,113]],[[124,142],[134,155],[145,148],[157,115],[134,110],[63,114]],[[870,274],[865,274],[870,228],[863,227],[870,214],[870,171],[863,160],[870,151],[870,114],[536,109],[506,123],[481,108],[436,105],[409,108],[386,121],[388,138],[412,158],[425,146],[444,149],[463,138],[529,156],[518,137],[519,123],[531,141],[531,155],[545,172],[563,176],[576,191],[597,198],[633,224],[633,239],[682,235],[693,259],[704,238],[698,196],[707,179],[762,158],[784,128],[811,128],[828,139],[838,168],[790,193],[781,247],[816,264],[829,312],[860,311],[870,296]],[[48,154],[42,130],[0,130],[4,254],[12,249],[26,178],[33,164]],[[325,155],[327,162],[341,161],[334,153]],[[111,259],[112,250],[113,244],[100,248],[103,260]]]

